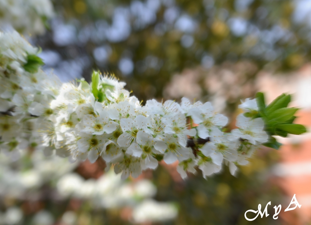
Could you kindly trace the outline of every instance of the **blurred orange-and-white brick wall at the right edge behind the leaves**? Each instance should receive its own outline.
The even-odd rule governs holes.
[[[308,132],[301,136],[278,138],[283,146],[279,151],[280,163],[274,167],[273,173],[288,196],[280,214],[284,223],[311,224],[311,65],[304,65],[291,76],[263,73],[258,77],[257,85],[259,91],[266,93],[267,103],[286,92],[293,94],[291,106],[301,108],[295,123],[305,125]],[[294,194],[301,208],[284,212]]]

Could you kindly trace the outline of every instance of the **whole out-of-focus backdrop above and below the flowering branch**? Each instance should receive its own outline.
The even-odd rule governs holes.
[[[63,82],[90,81],[98,69],[144,102],[211,101],[231,118],[229,130],[240,99],[292,93],[297,123],[310,131],[310,0],[52,2],[45,34],[25,35]],[[0,224],[311,224],[310,133],[279,141],[281,150],[258,151],[236,177],[224,166],[207,180],[199,170],[182,180],[175,165],[160,164],[121,182],[101,160],[71,164],[36,149],[12,163],[1,155]],[[302,207],[284,213],[294,194]],[[270,216],[244,218],[269,201]]]

